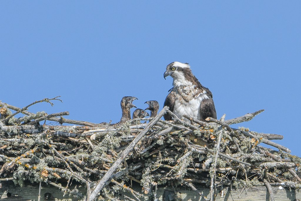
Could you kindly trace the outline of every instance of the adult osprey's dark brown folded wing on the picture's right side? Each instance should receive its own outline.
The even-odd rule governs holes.
[[[206,92],[209,99],[203,99],[201,102],[200,105],[201,119],[199,119],[200,121],[205,121],[207,117],[212,117],[216,119],[216,110],[213,102],[213,95],[208,88],[206,88]]]

